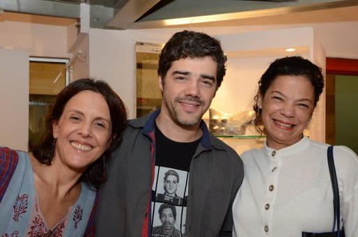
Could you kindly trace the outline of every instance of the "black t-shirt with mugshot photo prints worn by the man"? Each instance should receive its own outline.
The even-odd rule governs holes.
[[[174,142],[155,124],[152,237],[180,237],[185,233],[189,167],[199,142]]]

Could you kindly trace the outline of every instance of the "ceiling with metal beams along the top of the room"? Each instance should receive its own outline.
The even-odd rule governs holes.
[[[107,29],[358,21],[358,0],[1,0],[0,21],[72,24],[81,3],[91,27]]]

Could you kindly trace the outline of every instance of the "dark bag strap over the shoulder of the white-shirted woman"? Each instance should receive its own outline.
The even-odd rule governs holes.
[[[336,176],[336,167],[334,166],[334,158],[333,158],[333,146],[329,146],[327,150],[327,160],[329,167],[329,175],[331,176],[332,190],[333,190],[333,206],[334,206],[334,222],[332,231],[334,231],[337,226],[337,237],[340,235],[341,228],[341,211],[339,204],[339,190],[338,190],[338,181]],[[337,223],[337,225],[336,225]]]

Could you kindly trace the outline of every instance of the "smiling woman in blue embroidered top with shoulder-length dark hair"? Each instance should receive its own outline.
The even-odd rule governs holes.
[[[79,79],[63,89],[33,153],[0,148],[0,234],[93,236],[96,190],[126,121],[105,82]]]

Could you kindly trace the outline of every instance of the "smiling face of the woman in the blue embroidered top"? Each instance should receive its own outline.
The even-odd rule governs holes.
[[[56,139],[52,165],[82,173],[110,144],[111,116],[106,100],[93,91],[77,93],[52,128]]]

